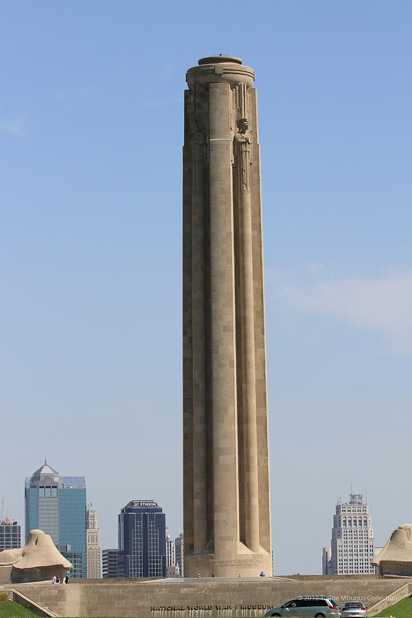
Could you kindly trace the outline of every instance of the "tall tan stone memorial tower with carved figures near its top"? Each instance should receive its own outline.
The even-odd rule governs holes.
[[[185,577],[271,574],[255,73],[187,71],[183,147]]]

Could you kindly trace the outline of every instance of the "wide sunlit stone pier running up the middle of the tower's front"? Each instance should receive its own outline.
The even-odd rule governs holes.
[[[229,84],[209,85],[211,397],[216,553],[233,551],[238,539],[230,102]]]

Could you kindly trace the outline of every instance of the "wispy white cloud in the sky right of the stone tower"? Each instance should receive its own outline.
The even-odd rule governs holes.
[[[321,269],[317,273],[321,275]],[[286,282],[277,273],[276,279],[277,299],[289,310],[333,317],[375,332],[385,337],[392,352],[412,354],[412,270],[323,281],[306,276],[299,282]]]

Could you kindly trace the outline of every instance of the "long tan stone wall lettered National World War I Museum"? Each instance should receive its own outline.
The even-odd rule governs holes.
[[[315,575],[293,580],[71,580],[67,585],[44,582],[14,588],[62,617],[201,618],[262,616],[268,608],[304,595],[332,596],[339,604],[358,599],[371,607],[408,581]]]

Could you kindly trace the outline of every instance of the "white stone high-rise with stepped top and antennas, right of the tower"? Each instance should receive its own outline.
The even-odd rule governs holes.
[[[363,494],[351,492],[349,503],[339,501],[336,504],[331,540],[332,555],[325,575],[375,573],[371,566],[374,546],[374,529],[368,505],[363,503]]]

